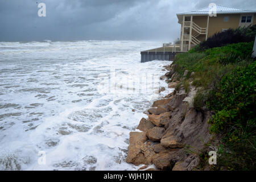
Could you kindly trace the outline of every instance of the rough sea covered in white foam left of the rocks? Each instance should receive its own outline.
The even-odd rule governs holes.
[[[0,169],[137,169],[125,162],[129,133],[167,84],[145,91],[131,82],[150,86],[148,80],[164,74],[169,61],[140,63],[139,51],[156,46],[0,43]],[[46,165],[38,164],[39,151],[46,152]]]

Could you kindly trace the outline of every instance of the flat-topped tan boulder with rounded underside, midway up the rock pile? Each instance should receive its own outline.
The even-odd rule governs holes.
[[[170,121],[171,112],[162,113],[160,115],[150,114],[148,119],[156,126],[165,126]]]

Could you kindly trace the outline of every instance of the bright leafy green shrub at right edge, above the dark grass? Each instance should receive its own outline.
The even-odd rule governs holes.
[[[224,125],[230,127],[237,119],[246,123],[247,119],[254,118],[255,65],[254,62],[246,68],[238,67],[227,74],[208,101],[209,108],[217,112],[210,120],[215,131],[223,131]]]

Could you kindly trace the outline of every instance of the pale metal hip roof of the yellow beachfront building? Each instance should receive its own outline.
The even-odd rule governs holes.
[[[238,9],[236,7],[216,5],[217,14],[234,14],[234,13],[256,13],[256,10]],[[177,15],[208,15],[209,7],[204,7],[199,10],[189,11],[185,13],[178,13]]]

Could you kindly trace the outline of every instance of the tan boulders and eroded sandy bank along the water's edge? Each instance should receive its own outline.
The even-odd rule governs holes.
[[[190,86],[188,93],[182,86],[177,90],[182,79],[174,72],[173,62],[163,67],[167,73],[160,80],[174,91],[154,101],[147,110],[148,118],[139,122],[140,131],[130,132],[126,162],[138,166],[138,171],[191,171],[200,163],[197,151],[212,138],[207,123],[211,114],[209,110],[200,113],[192,108],[196,88]]]

